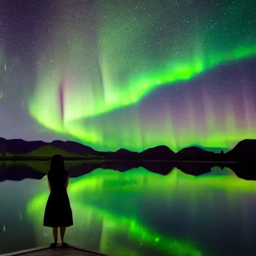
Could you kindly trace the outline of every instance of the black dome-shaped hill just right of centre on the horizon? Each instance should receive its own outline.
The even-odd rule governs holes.
[[[139,153],[140,160],[174,160],[175,153],[167,146],[150,147]]]

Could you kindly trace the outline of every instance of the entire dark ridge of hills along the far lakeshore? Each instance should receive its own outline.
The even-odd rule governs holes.
[[[213,152],[201,146],[184,147],[177,153],[165,145],[150,147],[142,152],[120,148],[114,152],[97,151],[92,147],[75,141],[41,140],[25,141],[23,139],[0,138],[0,159],[17,157],[49,158],[53,154],[62,154],[64,158],[98,158],[106,160],[172,160],[172,161],[256,161],[256,139],[239,141],[234,148],[227,151]]]

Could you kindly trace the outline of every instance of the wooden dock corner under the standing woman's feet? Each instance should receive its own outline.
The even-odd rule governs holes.
[[[5,254],[0,254],[0,256],[14,256],[14,255],[22,255],[22,256],[109,256],[106,254],[102,254],[98,251],[89,250],[86,248],[68,245],[67,248],[62,248],[61,246],[57,246],[56,248],[51,248],[49,246],[36,247],[32,249],[20,250]]]

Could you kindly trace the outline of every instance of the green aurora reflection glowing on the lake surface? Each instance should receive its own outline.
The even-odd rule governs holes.
[[[48,195],[46,180],[44,182],[45,192],[35,195],[27,204],[27,214],[34,221],[38,245],[41,245],[42,233],[47,234],[49,241],[51,237],[49,228],[42,227],[43,209]],[[86,240],[86,232],[93,232],[98,227],[94,235],[99,236],[100,250],[104,253],[117,255],[125,249],[126,253],[130,250],[128,255],[139,255],[139,248],[134,248],[134,245],[125,248],[127,244],[133,244],[134,240],[135,244],[152,246],[166,255],[210,255],[206,253],[205,248],[199,249],[193,241],[176,237],[175,234],[166,236],[142,224],[137,210],[139,198],[163,200],[166,207],[174,206],[175,201],[185,200],[184,203],[188,205],[187,215],[193,216],[196,214],[199,201],[201,202],[201,191],[203,198],[206,199],[203,207],[211,212],[216,207],[216,190],[226,194],[229,204],[237,205],[237,195],[255,193],[254,183],[255,181],[239,179],[228,168],[220,170],[218,167],[212,168],[210,174],[201,176],[184,174],[176,168],[166,176],[149,172],[142,167],[123,173],[96,169],[84,176],[70,179],[68,194],[75,225],[68,228],[67,239],[75,241],[74,234],[84,236],[83,244],[79,245],[88,247],[90,243]],[[128,203],[134,196],[138,199],[134,203]],[[114,206],[114,201],[118,201],[118,207]],[[122,239],[117,239],[120,236],[124,237],[123,246],[120,244]],[[193,252],[189,254],[188,251]]]

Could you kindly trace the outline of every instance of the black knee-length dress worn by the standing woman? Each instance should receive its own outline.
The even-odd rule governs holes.
[[[73,225],[72,210],[65,189],[67,170],[49,170],[47,177],[51,191],[45,206],[43,225],[50,227]]]

